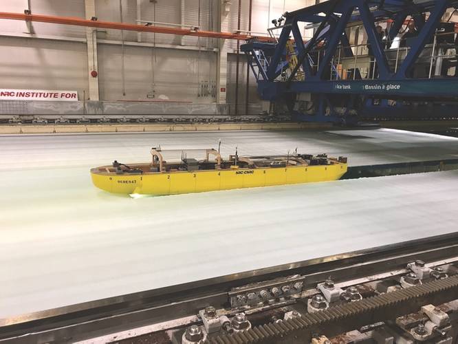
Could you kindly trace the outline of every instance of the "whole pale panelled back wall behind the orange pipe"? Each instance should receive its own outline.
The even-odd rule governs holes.
[[[95,0],[96,15],[102,21],[120,21],[120,0]],[[124,23],[136,23],[137,0],[121,0]],[[218,30],[219,2],[221,0],[184,0],[184,23],[199,25],[201,30]],[[84,0],[31,0],[32,12],[68,17],[85,17]],[[310,6],[315,0],[253,0],[252,31],[267,32],[270,21],[279,18],[285,11]],[[166,23],[181,23],[182,0],[140,0],[142,20]],[[199,11],[200,3],[200,11]],[[241,29],[248,30],[249,0],[241,0]],[[20,12],[27,6],[26,0],[1,1],[1,10]],[[237,30],[239,0],[232,0],[230,6],[230,32]],[[199,15],[200,12],[200,15]],[[39,35],[71,36],[85,39],[85,28],[69,25],[33,23]],[[23,21],[0,21],[0,32],[21,34],[28,28]],[[99,39],[121,39],[119,30],[97,30]],[[218,39],[180,37],[169,34],[142,33],[142,42],[200,45],[201,52],[188,50],[160,49],[156,51],[155,96],[161,94],[171,100],[210,103],[212,97],[198,97],[199,80],[215,80],[217,54],[206,52],[208,47],[217,47]],[[137,32],[124,31],[124,40],[137,41]],[[48,89],[78,89],[80,97],[87,90],[87,55],[83,43],[65,43],[41,39],[0,38],[1,84],[5,87],[32,87]],[[230,48],[237,47],[237,41],[227,41]],[[243,42],[241,42],[243,43]],[[153,90],[151,72],[151,47],[125,47],[125,89],[122,95],[122,47],[99,44],[99,75],[101,100],[150,100],[147,95]],[[235,55],[228,63],[228,103],[235,101]],[[245,61],[245,56],[241,56]],[[197,75],[199,72],[199,75]],[[250,76],[250,101],[258,102],[256,83]],[[246,64],[240,64],[239,100],[245,101]]]

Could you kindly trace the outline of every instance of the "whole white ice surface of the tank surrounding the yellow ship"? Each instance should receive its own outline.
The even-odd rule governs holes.
[[[138,199],[91,185],[91,166],[218,138],[224,155],[458,157],[457,138],[389,129],[0,136],[0,318],[457,230],[458,172]]]

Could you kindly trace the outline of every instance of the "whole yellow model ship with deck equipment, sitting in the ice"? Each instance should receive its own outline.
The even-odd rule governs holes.
[[[160,148],[151,149],[146,164],[120,164],[91,169],[92,182],[110,193],[174,195],[205,191],[253,188],[338,180],[347,172],[347,158],[327,155],[240,156],[223,160],[215,149],[206,149],[203,160],[182,151],[177,162],[164,160]],[[212,160],[210,160],[212,155]]]

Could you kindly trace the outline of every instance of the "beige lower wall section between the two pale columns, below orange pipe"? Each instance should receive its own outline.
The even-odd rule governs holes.
[[[116,45],[99,45],[100,100],[169,100],[212,103],[214,98],[199,98],[199,80],[215,80],[216,54],[157,49],[154,64],[153,49],[125,47],[122,94],[122,49]],[[199,73],[197,73],[199,72]],[[148,95],[155,90],[155,98]]]

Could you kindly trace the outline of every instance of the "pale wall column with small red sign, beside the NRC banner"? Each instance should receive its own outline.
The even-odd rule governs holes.
[[[86,19],[96,17],[95,0],[85,0]],[[97,64],[97,38],[95,28],[86,28],[87,40],[87,64],[89,67],[89,99],[99,100],[98,94],[98,64]],[[97,72],[96,77],[91,75],[92,72]]]

